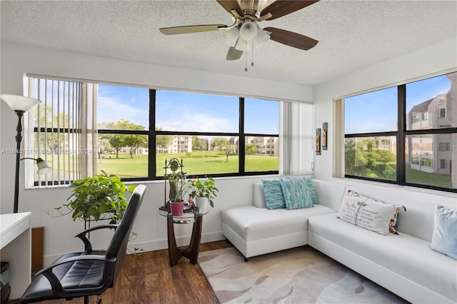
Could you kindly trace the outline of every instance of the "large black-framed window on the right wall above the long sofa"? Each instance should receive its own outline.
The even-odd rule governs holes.
[[[344,106],[345,176],[457,192],[457,73]]]

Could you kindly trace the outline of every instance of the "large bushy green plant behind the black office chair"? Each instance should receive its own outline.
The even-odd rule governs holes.
[[[71,183],[70,186],[74,189],[67,199],[69,203],[54,209],[61,216],[71,213],[73,221],[77,218],[81,221],[98,221],[100,218],[106,218],[107,214],[112,220],[119,221],[127,207],[125,193],[133,193],[136,186],[126,186],[121,178],[102,172],[103,174]],[[64,207],[68,211],[62,211]]]

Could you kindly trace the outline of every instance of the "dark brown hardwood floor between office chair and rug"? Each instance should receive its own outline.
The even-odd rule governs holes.
[[[225,240],[203,243],[200,252],[232,246]],[[181,258],[178,265],[171,268],[166,249],[127,255],[116,286],[99,296],[92,296],[90,303],[95,304],[99,298],[103,304],[219,303],[199,264],[192,265],[189,259]],[[83,302],[83,298],[79,298],[41,303]]]

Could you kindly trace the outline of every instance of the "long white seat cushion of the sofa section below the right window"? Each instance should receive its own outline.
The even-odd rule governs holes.
[[[457,300],[457,260],[428,248],[429,242],[406,233],[380,235],[337,218],[308,219],[309,243],[323,238],[390,269],[429,290]]]

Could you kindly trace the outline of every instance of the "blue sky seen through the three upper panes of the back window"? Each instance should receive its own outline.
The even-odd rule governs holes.
[[[149,121],[149,90],[99,85],[99,122],[124,118],[145,126]],[[276,101],[246,98],[245,132],[278,133]],[[238,97],[156,91],[156,124],[167,131],[238,132]]]

